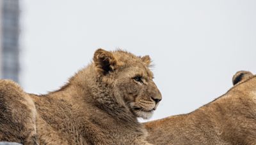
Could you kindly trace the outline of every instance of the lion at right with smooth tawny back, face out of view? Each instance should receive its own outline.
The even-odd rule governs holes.
[[[188,114],[145,123],[152,144],[256,144],[256,76],[239,71],[221,97]]]

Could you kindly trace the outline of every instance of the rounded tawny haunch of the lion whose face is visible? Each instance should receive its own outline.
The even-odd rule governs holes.
[[[36,144],[36,109],[17,83],[0,79],[0,141]]]

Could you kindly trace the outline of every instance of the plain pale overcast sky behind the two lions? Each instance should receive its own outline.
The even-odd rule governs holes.
[[[22,0],[21,85],[57,90],[97,48],[150,55],[163,95],[150,120],[189,113],[256,72],[256,1]]]

